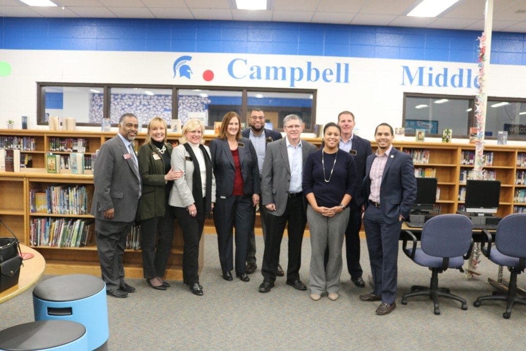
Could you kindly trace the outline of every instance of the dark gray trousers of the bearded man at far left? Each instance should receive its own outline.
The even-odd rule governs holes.
[[[132,224],[95,218],[97,254],[106,290],[118,289],[124,283],[123,255]]]

